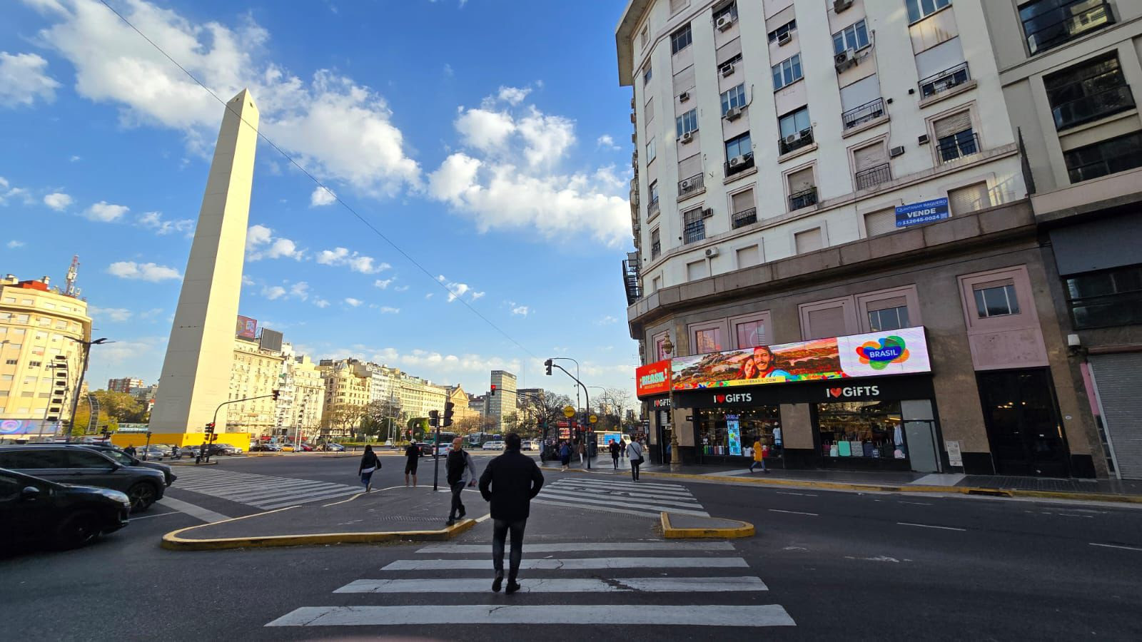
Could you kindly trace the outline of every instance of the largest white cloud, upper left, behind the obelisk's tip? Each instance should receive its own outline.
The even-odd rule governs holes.
[[[124,126],[184,133],[192,151],[209,151],[218,130],[218,103],[96,0],[39,3],[50,26],[39,43],[75,67],[75,91],[120,107]],[[200,23],[145,0],[120,6],[159,47],[228,98],[250,88],[260,129],[323,179],[381,195],[419,183],[385,99],[329,70],[306,81],[266,58],[270,32],[250,14],[227,25]],[[0,82],[0,85],[3,85]]]

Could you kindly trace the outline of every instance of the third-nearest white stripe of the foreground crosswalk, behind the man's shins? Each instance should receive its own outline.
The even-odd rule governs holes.
[[[383,571],[491,570],[491,560],[396,560]],[[526,570],[749,568],[741,557],[568,557],[523,560]]]

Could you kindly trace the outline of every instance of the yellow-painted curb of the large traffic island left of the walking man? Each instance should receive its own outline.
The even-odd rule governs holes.
[[[289,511],[297,506],[288,506],[278,511]],[[233,522],[248,517],[265,515],[266,513],[255,513],[244,517],[226,520]],[[215,522],[222,523],[222,522]],[[169,551],[223,551],[226,548],[267,548],[273,546],[316,546],[323,544],[377,544],[380,541],[447,541],[476,525],[476,521],[468,519],[443,528],[441,530],[404,530],[404,531],[380,531],[380,532],[321,532],[312,535],[270,535],[262,537],[220,537],[212,539],[186,539],[179,533],[198,528],[214,525],[199,524],[190,528],[178,529],[162,536],[163,548]]]

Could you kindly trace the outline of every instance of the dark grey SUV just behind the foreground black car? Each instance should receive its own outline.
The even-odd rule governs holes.
[[[162,499],[167,480],[160,471],[123,466],[85,446],[0,446],[0,468],[56,483],[97,485],[127,493],[131,509],[146,511]]]

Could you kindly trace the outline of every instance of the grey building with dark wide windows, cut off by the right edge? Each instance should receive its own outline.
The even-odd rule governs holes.
[[[1071,380],[1111,476],[1142,479],[1142,2],[983,3]]]

